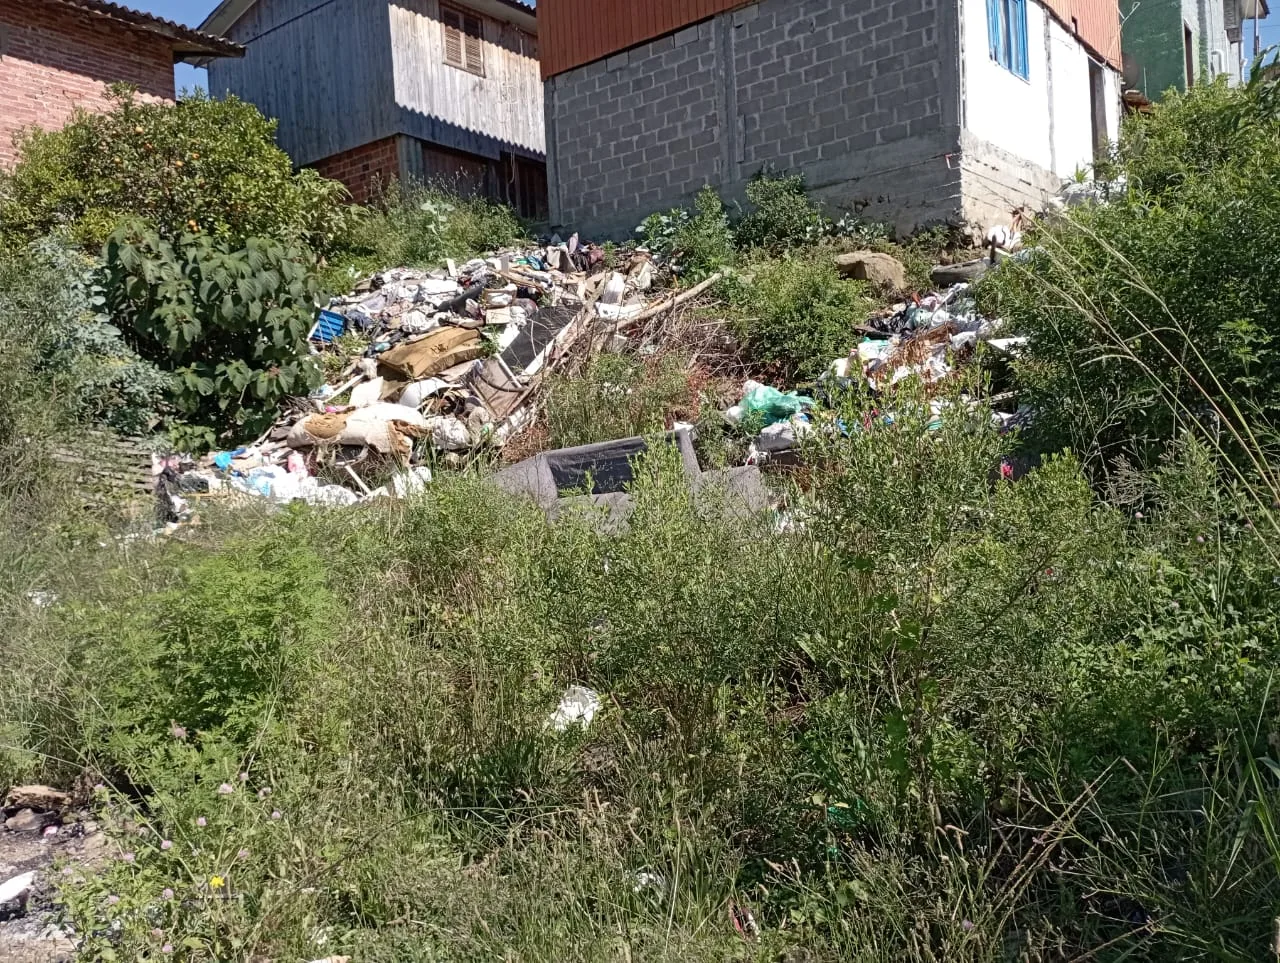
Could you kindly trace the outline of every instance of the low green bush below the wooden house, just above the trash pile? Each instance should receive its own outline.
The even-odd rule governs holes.
[[[329,287],[342,292],[369,271],[434,268],[444,257],[474,257],[525,237],[509,207],[436,182],[387,184],[352,218],[326,273]]]

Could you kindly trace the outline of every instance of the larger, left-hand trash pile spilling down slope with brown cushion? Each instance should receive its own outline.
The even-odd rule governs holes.
[[[575,234],[366,278],[310,334],[316,355],[358,353],[338,376],[250,444],[154,461],[163,521],[180,524],[193,499],[224,492],[325,506],[402,497],[430,480],[424,462],[461,466],[503,446],[534,420],[539,384],[575,344],[625,336],[678,301],[650,306],[657,269],[644,251],[603,264]]]

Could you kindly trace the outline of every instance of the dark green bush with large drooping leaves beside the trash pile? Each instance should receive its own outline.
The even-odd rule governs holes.
[[[133,223],[105,256],[106,307],[142,357],[173,373],[188,441],[252,434],[276,402],[319,384],[307,334],[320,292],[306,248],[250,238],[236,250],[189,232],[170,242]]]

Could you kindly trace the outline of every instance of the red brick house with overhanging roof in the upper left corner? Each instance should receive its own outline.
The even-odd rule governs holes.
[[[132,83],[172,101],[179,60],[243,56],[237,44],[105,0],[0,0],[0,168],[14,136],[65,124],[106,102],[106,85]]]

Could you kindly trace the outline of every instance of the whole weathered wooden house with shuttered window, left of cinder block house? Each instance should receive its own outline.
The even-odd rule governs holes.
[[[244,47],[209,91],[279,119],[300,166],[365,201],[445,179],[547,215],[538,20],[520,0],[223,0],[201,27]]]

